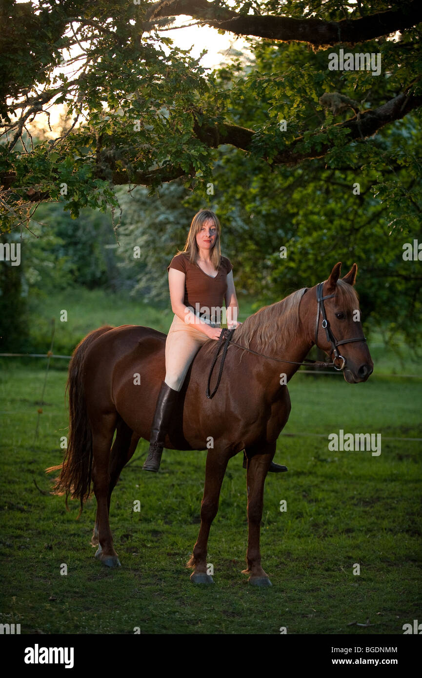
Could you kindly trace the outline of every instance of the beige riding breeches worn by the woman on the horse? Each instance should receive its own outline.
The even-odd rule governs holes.
[[[212,326],[220,327],[213,323]],[[182,388],[189,365],[208,338],[194,325],[189,325],[174,315],[166,339],[166,378],[164,380],[174,391],[180,391]]]

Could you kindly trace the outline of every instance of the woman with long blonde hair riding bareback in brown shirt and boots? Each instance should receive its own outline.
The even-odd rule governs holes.
[[[237,327],[237,304],[233,266],[221,256],[220,222],[211,210],[193,217],[185,249],[167,267],[174,319],[166,340],[166,378],[161,384],[151,428],[145,471],[158,471],[164,438],[178,392],[197,351],[208,339],[221,334],[223,298],[227,327]],[[269,471],[287,471],[271,464]]]

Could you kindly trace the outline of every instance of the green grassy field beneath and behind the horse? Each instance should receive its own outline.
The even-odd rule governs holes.
[[[102,323],[163,331],[170,324],[168,313],[133,301],[117,305],[108,298],[107,310],[101,295],[89,299],[49,298],[34,310],[34,332],[41,336],[57,308],[69,313],[56,332],[63,348]],[[43,471],[61,459],[66,361],[50,367],[35,439],[45,363],[2,359],[0,622],[47,634],[130,634],[136,627],[140,633],[271,634],[281,626],[292,634],[402,634],[403,624],[420,618],[421,442],[397,438],[422,437],[422,384],[382,373],[421,374],[421,366],[400,362],[375,339],[375,374],[366,384],[303,374],[290,382],[292,414],[275,456],[289,472],[269,475],[265,487],[262,555],[273,583],[265,590],[249,586],[240,572],[247,538],[240,455],[229,463],[210,534],[214,586],[191,584],[185,568],[199,530],[205,452],[165,450],[155,475],[141,471],[147,443],[139,444],[111,505],[122,567],[100,565],[89,544],[95,499],[76,520],[76,504],[66,512],[63,498],[48,494]],[[328,434],[339,428],[381,433],[381,455],[329,452]],[[360,575],[353,574],[355,563]],[[368,619],[371,626],[356,626]]]

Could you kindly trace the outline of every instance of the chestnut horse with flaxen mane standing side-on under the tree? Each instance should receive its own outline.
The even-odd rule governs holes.
[[[294,292],[239,325],[214,399],[206,398],[206,386],[216,342],[208,340],[195,356],[165,441],[170,450],[206,450],[211,440],[214,445],[206,458],[199,536],[187,563],[193,568],[193,582],[212,582],[207,574],[207,542],[221,483],[229,459],[246,450],[248,567],[244,574],[249,574],[251,584],[271,586],[261,567],[259,538],[265,477],[290,414],[284,384],[299,369],[294,363],[301,363],[315,343],[334,362],[337,345],[342,344],[341,369],[347,382],[364,382],[372,373],[356,319],[359,304],[352,285],[357,270],[353,264],[339,279],[341,263],[336,264],[324,284]],[[319,302],[317,292],[323,297]],[[339,338],[335,345],[334,335]],[[81,510],[92,481],[97,500],[92,544],[98,544],[96,557],[109,567],[120,565],[109,525],[111,493],[138,440],[149,440],[166,374],[165,344],[166,334],[150,327],[100,327],[79,343],[69,364],[68,447],[63,464],[49,471],[61,469],[54,492],[66,494],[66,502],[69,495],[78,498]],[[285,380],[280,379],[282,374]]]

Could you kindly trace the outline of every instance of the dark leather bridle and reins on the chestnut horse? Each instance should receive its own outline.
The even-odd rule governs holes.
[[[342,370],[344,370],[345,365],[346,365],[346,359],[343,357],[343,355],[340,355],[339,349],[337,348],[337,346],[341,346],[341,344],[349,344],[349,343],[355,342],[355,341],[366,341],[366,337],[364,337],[364,336],[362,336],[362,337],[352,337],[351,339],[342,339],[340,341],[338,341],[334,337],[334,334],[332,334],[332,330],[331,330],[331,327],[330,327],[330,322],[327,319],[324,301],[326,299],[331,299],[332,297],[335,296],[335,294],[328,294],[327,296],[322,296],[322,290],[323,290],[323,287],[324,287],[324,282],[325,281],[323,281],[322,283],[319,283],[317,285],[317,288],[316,288],[318,311],[317,311],[317,317],[316,317],[316,323],[315,323],[315,341],[314,341],[314,344],[315,344],[315,346],[318,346],[318,329],[319,329],[319,324],[320,324],[320,315],[322,315],[322,327],[324,327],[324,330],[326,332],[327,341],[331,344],[332,353],[334,353],[334,361],[332,361],[332,363],[326,363],[326,362],[323,362],[323,361],[311,360],[311,359],[305,359],[305,360],[303,360],[299,363],[299,362],[294,361],[294,360],[284,360],[282,358],[275,358],[271,355],[265,355],[265,353],[258,353],[258,351],[252,351],[252,348],[246,348],[246,346],[241,346],[240,344],[236,344],[236,342],[233,342],[231,338],[232,338],[233,332],[235,332],[235,330],[227,330],[226,328],[223,328],[223,330],[221,330],[220,337],[218,338],[218,344],[217,344],[216,352],[215,352],[214,358],[212,360],[210,374],[208,375],[206,397],[207,398],[213,398],[214,395],[216,394],[217,390],[218,390],[218,386],[220,386],[220,380],[221,380],[221,376],[223,375],[223,367],[224,367],[224,363],[225,363],[225,359],[226,359],[226,355],[227,355],[227,350],[229,348],[229,344],[232,344],[233,346],[237,346],[237,348],[242,348],[244,351],[248,351],[248,353],[252,353],[253,355],[258,355],[258,356],[261,356],[263,358],[267,358],[269,360],[274,360],[277,363],[289,363],[290,365],[313,365],[314,367],[334,367],[334,370],[337,370],[337,372],[341,372]],[[307,292],[307,288],[304,290],[303,294],[305,294],[305,292]],[[216,383],[216,386],[214,388],[214,391],[212,391],[212,393],[210,393],[210,384],[211,384],[212,372],[214,372],[214,367],[215,367],[216,361],[218,359],[218,355],[220,353],[220,348],[221,348],[223,342],[224,342],[224,348],[223,348],[223,353],[221,355],[220,371],[218,372],[217,383]],[[341,358],[343,360],[341,367],[337,367],[337,365],[335,364],[335,360],[337,360],[337,358]]]

